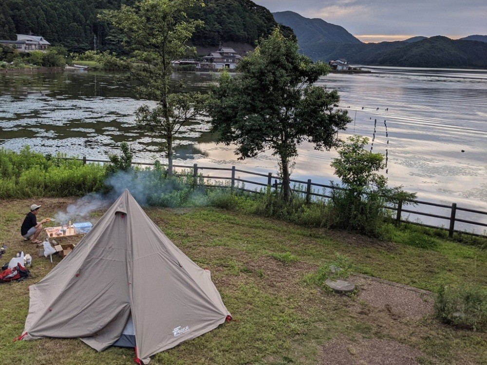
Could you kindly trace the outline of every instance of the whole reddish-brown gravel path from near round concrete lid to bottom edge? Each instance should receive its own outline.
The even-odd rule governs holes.
[[[347,312],[370,326],[375,338],[336,338],[322,347],[318,365],[419,365],[420,357],[436,364],[405,344],[423,342],[421,320],[433,313],[433,294],[375,278],[352,276],[350,281],[358,294],[356,300],[349,300]]]

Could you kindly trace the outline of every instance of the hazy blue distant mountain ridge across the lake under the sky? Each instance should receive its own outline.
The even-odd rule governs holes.
[[[345,28],[290,11],[273,13],[294,30],[301,52],[312,59],[346,58],[352,64],[401,67],[487,68],[487,36],[412,37],[403,41],[363,43]]]

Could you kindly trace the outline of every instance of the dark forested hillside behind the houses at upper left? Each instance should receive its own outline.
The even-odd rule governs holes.
[[[134,0],[1,0],[0,39],[17,39],[16,34],[42,36],[53,45],[65,46],[70,52],[94,49],[119,50],[119,41],[110,27],[97,19],[102,9],[118,9]],[[202,19],[193,44],[214,46],[232,41],[254,44],[270,34],[277,25],[272,14],[250,0],[205,0],[206,6],[188,12]],[[290,28],[285,28],[292,35]]]

